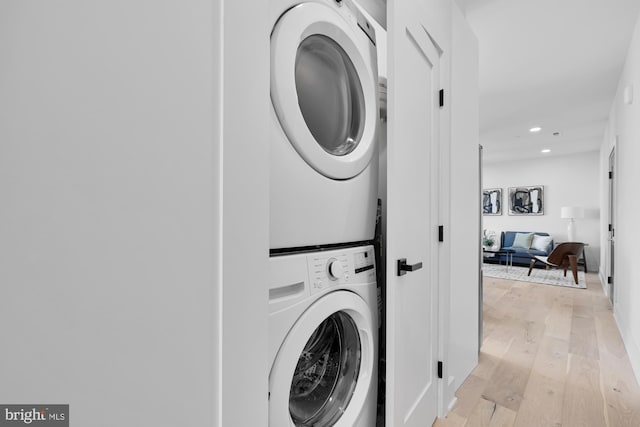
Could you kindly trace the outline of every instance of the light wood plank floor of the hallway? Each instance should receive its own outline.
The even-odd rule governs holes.
[[[433,427],[639,427],[640,388],[597,275],[485,278],[480,362]]]

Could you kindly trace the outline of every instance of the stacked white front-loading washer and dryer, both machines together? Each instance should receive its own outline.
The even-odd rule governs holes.
[[[376,423],[375,34],[349,0],[270,0],[269,426]]]

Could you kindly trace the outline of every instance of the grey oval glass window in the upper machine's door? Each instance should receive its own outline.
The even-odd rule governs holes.
[[[362,136],[364,96],[353,63],[333,39],[314,34],[298,47],[298,105],[309,131],[329,154],[351,153]]]

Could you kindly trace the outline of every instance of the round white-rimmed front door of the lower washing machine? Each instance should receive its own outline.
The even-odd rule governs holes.
[[[269,376],[269,425],[353,426],[373,374],[370,308],[356,294],[320,298],[293,326]]]

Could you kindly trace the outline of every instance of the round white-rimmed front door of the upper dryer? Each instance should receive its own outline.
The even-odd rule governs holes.
[[[377,127],[369,40],[332,7],[303,3],[271,34],[271,99],[287,138],[315,170],[349,179],[367,167]]]

